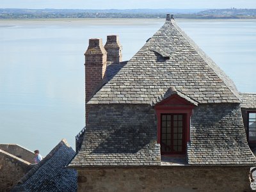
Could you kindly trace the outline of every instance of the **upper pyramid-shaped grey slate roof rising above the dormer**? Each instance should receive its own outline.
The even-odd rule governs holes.
[[[198,103],[240,102],[232,80],[177,26],[165,24],[88,104],[152,104],[175,86]]]

